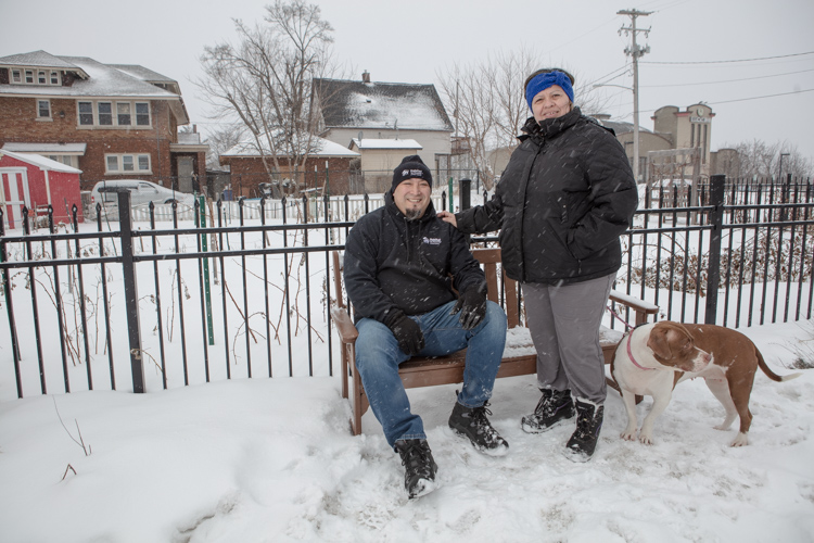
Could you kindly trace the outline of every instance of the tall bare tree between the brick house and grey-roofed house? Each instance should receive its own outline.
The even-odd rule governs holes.
[[[304,0],[277,0],[263,24],[234,26],[237,45],[206,47],[195,84],[217,118],[246,127],[269,175],[302,169],[317,150],[311,81],[335,70],[333,28]]]

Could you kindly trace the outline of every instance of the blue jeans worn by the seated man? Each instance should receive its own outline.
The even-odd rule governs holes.
[[[455,302],[414,315],[424,334],[419,356],[442,356],[467,350],[463,387],[458,403],[480,407],[492,396],[497,369],[506,344],[506,314],[494,302],[486,302],[486,316],[472,330],[465,330],[459,314],[449,315]],[[356,323],[356,368],[370,401],[370,408],[381,422],[384,437],[395,447],[398,440],[427,439],[421,417],[410,413],[407,392],[398,377],[398,365],[409,355],[398,349],[390,328],[372,318]]]

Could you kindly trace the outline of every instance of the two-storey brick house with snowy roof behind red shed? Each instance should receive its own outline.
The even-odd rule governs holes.
[[[0,149],[81,169],[81,188],[142,179],[182,192],[206,179],[207,146],[179,139],[178,83],[139,65],[46,51],[0,58]]]

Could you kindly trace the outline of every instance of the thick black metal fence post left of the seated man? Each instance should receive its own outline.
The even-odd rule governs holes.
[[[141,327],[139,325],[139,291],[136,283],[136,263],[132,258],[132,217],[130,216],[130,191],[119,189],[118,220],[122,229],[122,270],[125,281],[125,311],[127,312],[127,339],[130,342],[130,368],[132,391],[144,392],[144,363],[141,352]]]

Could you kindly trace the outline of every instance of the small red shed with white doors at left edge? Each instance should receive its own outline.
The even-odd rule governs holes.
[[[81,169],[39,154],[0,150],[0,209],[8,228],[20,228],[23,206],[31,213],[53,206],[54,223],[71,223],[71,209],[78,210],[82,223],[79,191]]]

